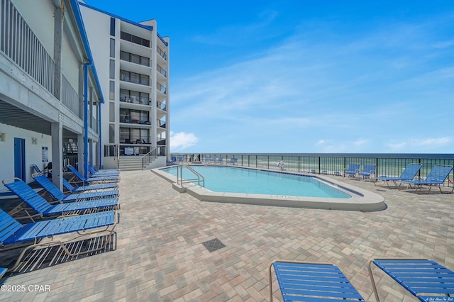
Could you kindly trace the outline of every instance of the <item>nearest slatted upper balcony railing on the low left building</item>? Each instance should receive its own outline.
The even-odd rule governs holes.
[[[54,94],[55,62],[10,0],[1,1],[0,50]]]

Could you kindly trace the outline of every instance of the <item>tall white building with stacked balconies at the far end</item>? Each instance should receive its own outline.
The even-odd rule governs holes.
[[[106,106],[101,108],[103,167],[169,154],[170,40],[155,20],[134,22],[79,2]],[[148,156],[145,156],[148,155]],[[148,164],[146,162],[145,164]]]

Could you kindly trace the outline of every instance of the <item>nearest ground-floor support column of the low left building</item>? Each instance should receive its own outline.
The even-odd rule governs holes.
[[[50,133],[52,135],[52,182],[62,190],[62,172],[63,172],[63,123],[60,114],[57,123],[50,124]]]

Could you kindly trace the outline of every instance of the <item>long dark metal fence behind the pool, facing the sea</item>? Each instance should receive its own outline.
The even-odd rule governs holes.
[[[185,162],[203,162],[205,158],[223,157],[223,163],[231,158],[238,159],[238,166],[262,169],[279,169],[279,162],[284,162],[284,169],[288,172],[315,173],[328,175],[343,175],[348,164],[376,165],[376,176],[386,175],[398,177],[407,164],[422,164],[417,177],[424,179],[436,164],[454,165],[454,155],[354,155],[354,154],[304,154],[304,155],[257,155],[257,154],[231,154],[231,153],[194,153],[172,154],[182,156]],[[171,156],[170,155],[170,158]],[[446,185],[452,185],[450,179],[454,178],[451,172]]]

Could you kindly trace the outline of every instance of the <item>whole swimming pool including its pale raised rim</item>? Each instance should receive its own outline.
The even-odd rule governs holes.
[[[177,167],[180,166],[151,171],[172,183],[175,190],[199,201],[367,212],[382,211],[387,207],[379,194],[339,181],[336,177],[194,164],[190,167],[205,179],[205,186],[199,186],[179,183]],[[183,166],[182,171],[185,179],[195,178],[187,167]],[[266,185],[262,186],[263,183]],[[311,189],[304,189],[306,186]]]

